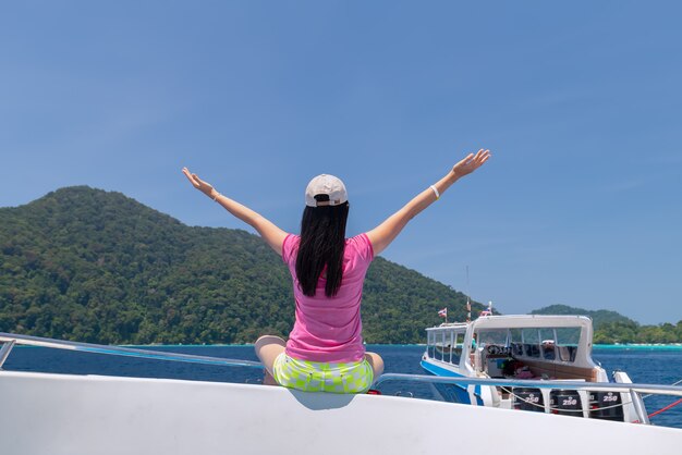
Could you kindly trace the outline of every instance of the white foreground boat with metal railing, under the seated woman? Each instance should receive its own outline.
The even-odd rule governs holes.
[[[0,367],[15,344],[257,367],[212,357],[0,333]],[[377,380],[451,382],[434,376]],[[455,379],[456,380],[456,379]],[[478,386],[490,379],[464,378]],[[538,382],[538,381],[532,381]],[[606,385],[605,385],[606,386]],[[623,384],[609,384],[611,388]],[[682,388],[629,384],[682,396]],[[492,434],[494,438],[489,435]],[[387,395],[279,386],[0,371],[0,453],[11,455],[431,454],[456,444],[484,454],[679,454],[682,430]]]

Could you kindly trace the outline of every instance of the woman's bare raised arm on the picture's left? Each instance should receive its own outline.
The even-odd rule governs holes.
[[[210,183],[204,182],[198,175],[191,173],[187,168],[183,168],[182,173],[185,174],[190,183],[192,183],[196,189],[220,204],[227,211],[244,221],[246,224],[253,226],[267,244],[270,245],[278,255],[282,256],[282,244],[287,237],[284,231],[248,207],[221,195]]]

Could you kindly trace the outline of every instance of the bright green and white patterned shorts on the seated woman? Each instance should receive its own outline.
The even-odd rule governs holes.
[[[365,393],[374,381],[366,359],[348,364],[299,360],[282,353],[275,359],[275,380],[304,392]]]

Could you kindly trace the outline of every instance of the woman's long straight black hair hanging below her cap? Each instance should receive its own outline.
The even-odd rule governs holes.
[[[318,201],[329,196],[315,196]],[[304,295],[313,297],[322,271],[325,295],[333,297],[343,278],[343,248],[349,202],[340,206],[307,207],[301,219],[301,244],[296,255],[296,278]]]

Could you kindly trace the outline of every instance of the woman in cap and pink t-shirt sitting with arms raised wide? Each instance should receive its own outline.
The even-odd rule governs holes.
[[[255,346],[266,368],[266,383],[309,392],[363,393],[369,389],[374,378],[383,372],[383,360],[365,352],[361,333],[360,307],[369,263],[411,219],[489,157],[484,149],[470,153],[377,228],[352,238],[345,238],[348,193],[343,182],[332,175],[318,175],[306,187],[301,235],[294,235],[183,169],[195,188],[253,226],[291,272],[296,310],[289,341],[265,335]]]

